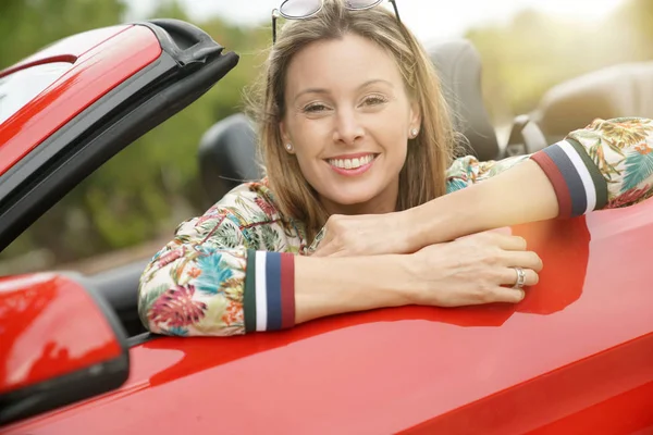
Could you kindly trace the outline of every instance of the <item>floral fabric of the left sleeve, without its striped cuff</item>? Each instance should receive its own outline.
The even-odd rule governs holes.
[[[247,249],[241,231],[221,211],[178,226],[175,238],[140,277],[138,314],[152,333],[234,335],[245,332]],[[229,248],[227,236],[237,240]]]

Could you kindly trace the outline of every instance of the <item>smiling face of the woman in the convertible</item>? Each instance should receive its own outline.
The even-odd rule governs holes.
[[[394,211],[420,120],[391,54],[357,35],[299,51],[286,75],[284,145],[330,213]]]

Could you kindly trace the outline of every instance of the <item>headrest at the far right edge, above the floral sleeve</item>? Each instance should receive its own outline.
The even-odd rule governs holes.
[[[653,62],[615,65],[551,88],[531,119],[552,142],[596,117],[653,117],[651,95]]]

